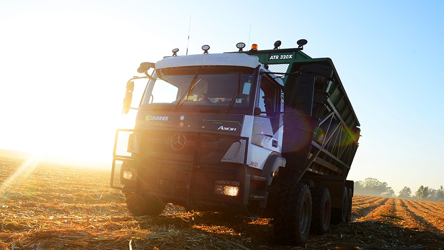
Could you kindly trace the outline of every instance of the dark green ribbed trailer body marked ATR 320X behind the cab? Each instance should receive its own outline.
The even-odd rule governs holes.
[[[308,105],[308,108],[305,108],[306,115],[319,119],[319,124],[314,131],[313,141],[309,145],[307,160],[298,166],[299,174],[295,177],[295,181],[300,181],[305,171],[327,176],[338,176],[345,180],[358,148],[360,136],[358,127],[360,123],[332,60],[329,58],[310,58],[299,49],[279,49],[278,51],[271,49],[269,51],[250,51],[247,53],[257,56],[259,62],[268,65],[272,72],[276,72],[277,76],[283,78],[286,108],[296,106],[295,101],[290,103],[291,100],[297,98],[292,96],[294,89],[298,90],[299,93],[301,88],[308,89],[303,96],[305,99],[303,101],[308,100],[305,103],[311,104]],[[331,69],[331,72],[329,72],[331,76],[315,74],[314,78],[310,79],[314,83],[297,82],[300,77],[299,73],[307,65],[327,66],[327,71]],[[286,74],[279,75],[279,72],[285,72]],[[295,86],[297,84],[300,86]],[[292,119],[290,120],[290,122],[293,122]],[[303,159],[305,156],[300,157]]]

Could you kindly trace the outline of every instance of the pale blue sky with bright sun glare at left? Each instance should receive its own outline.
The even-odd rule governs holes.
[[[111,162],[141,62],[307,39],[304,53],[334,61],[361,123],[348,179],[438,189],[443,12],[443,1],[0,0],[0,148]]]

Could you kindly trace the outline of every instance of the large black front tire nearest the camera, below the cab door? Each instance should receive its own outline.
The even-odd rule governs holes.
[[[277,195],[274,216],[276,243],[298,246],[305,244],[312,220],[312,196],[305,184],[282,186]]]

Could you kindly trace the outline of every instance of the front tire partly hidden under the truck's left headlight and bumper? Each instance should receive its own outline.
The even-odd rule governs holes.
[[[153,196],[131,193],[126,196],[126,208],[134,216],[159,215],[166,203]]]

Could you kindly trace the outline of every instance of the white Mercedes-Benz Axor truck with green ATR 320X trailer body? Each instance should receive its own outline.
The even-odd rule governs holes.
[[[126,84],[110,187],[135,216],[166,204],[273,219],[279,244],[302,245],[350,221],[360,123],[332,60],[294,48],[179,56],[140,64]],[[187,49],[188,50],[188,49]],[[188,54],[188,53],[187,53]],[[134,81],[143,80],[138,107]]]

